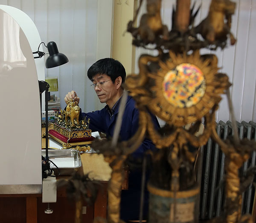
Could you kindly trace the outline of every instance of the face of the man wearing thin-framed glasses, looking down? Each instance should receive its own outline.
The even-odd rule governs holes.
[[[101,84],[100,82],[105,83]],[[97,86],[94,88],[94,90],[101,103],[108,103],[108,101],[111,101],[111,99],[117,94],[116,85],[106,74],[96,74],[93,77],[93,83],[97,83]]]

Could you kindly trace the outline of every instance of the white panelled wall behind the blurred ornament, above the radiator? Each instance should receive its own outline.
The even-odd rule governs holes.
[[[233,86],[230,88],[236,120],[256,122],[256,0],[233,0],[237,3],[236,13],[232,17],[232,32],[237,38],[235,46],[229,46],[224,51],[209,51],[202,49],[201,53],[214,53],[218,56],[218,66],[220,72],[226,73]],[[194,2],[194,1],[192,1]],[[201,4],[201,10],[195,20],[195,25],[203,20],[209,9],[211,0],[195,0],[196,6]],[[163,0],[162,18],[163,23],[171,28],[172,6],[176,0]],[[143,10],[139,14],[145,13],[145,1]],[[140,19],[138,19],[139,23]],[[142,53],[156,54],[142,48],[136,49],[135,73],[139,72],[137,61]],[[230,120],[227,98],[223,95],[223,100],[219,105],[216,121]]]

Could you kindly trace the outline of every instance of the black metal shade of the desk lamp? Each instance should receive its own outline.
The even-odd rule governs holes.
[[[62,64],[68,62],[67,57],[64,54],[59,53],[57,44],[55,42],[51,41],[47,43],[47,49],[49,52],[49,57],[47,57],[45,61],[46,68],[61,66]]]

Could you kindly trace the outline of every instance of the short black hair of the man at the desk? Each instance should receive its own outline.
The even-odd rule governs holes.
[[[126,72],[122,63],[113,58],[104,58],[93,63],[87,71],[87,77],[93,81],[96,74],[108,75],[114,83],[117,77],[122,78],[122,83],[125,82]]]

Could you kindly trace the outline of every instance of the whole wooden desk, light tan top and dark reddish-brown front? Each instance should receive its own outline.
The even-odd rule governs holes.
[[[44,133],[45,130],[42,130]],[[42,146],[45,140],[42,140]],[[111,177],[111,168],[104,161],[102,154],[81,154],[84,174],[95,180],[100,180],[102,187],[93,206],[86,207],[86,214],[82,215],[82,222],[92,223],[95,217],[107,217],[107,188]],[[128,170],[125,172],[122,189],[128,189]],[[58,178],[57,178],[58,180]],[[50,203],[52,214],[45,214],[48,204],[42,203],[42,194],[0,194],[0,222],[1,223],[73,223],[75,219],[75,202],[68,200],[64,188],[57,190],[57,202]],[[84,208],[85,209],[85,208]]]

